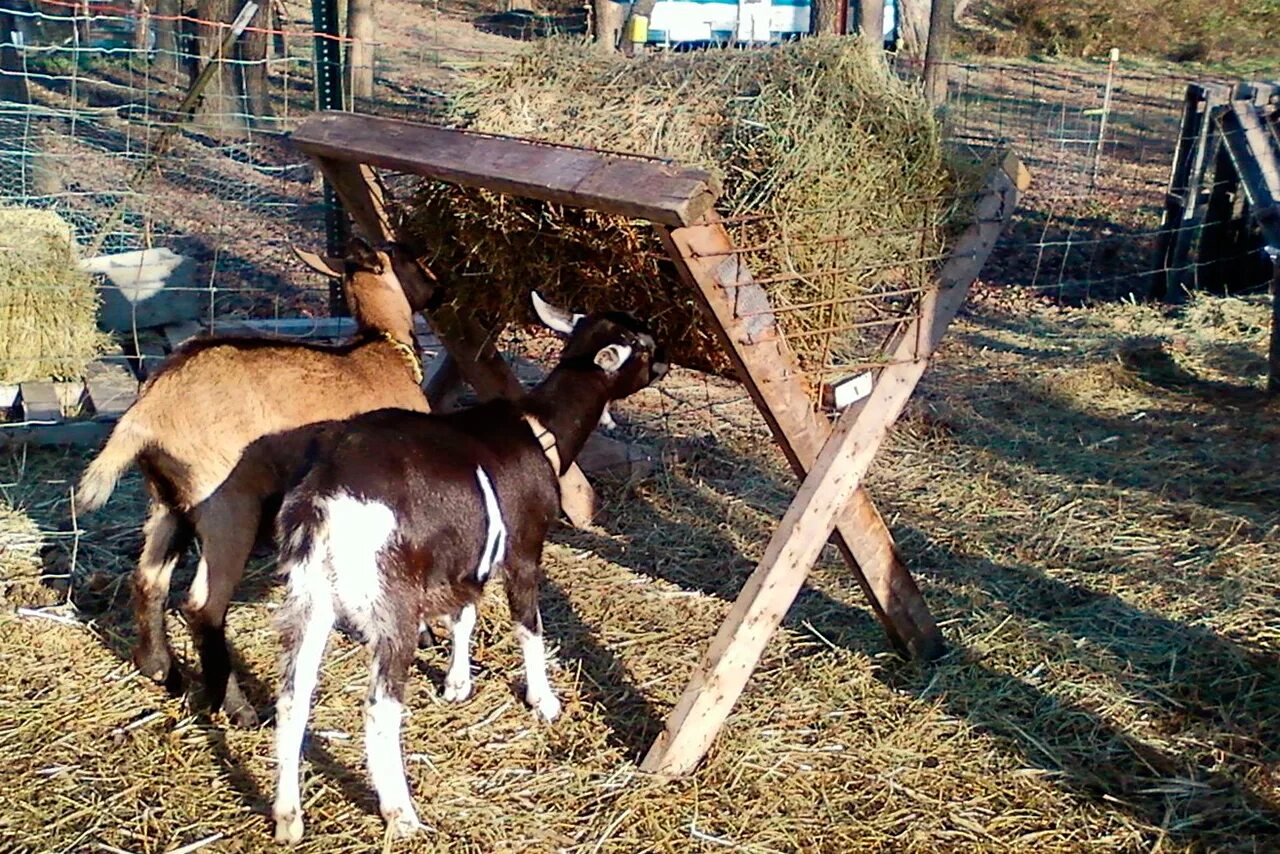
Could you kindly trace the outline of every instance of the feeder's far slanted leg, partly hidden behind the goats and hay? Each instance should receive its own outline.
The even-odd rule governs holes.
[[[351,115],[351,114],[320,114]],[[312,117],[319,118],[319,117]],[[367,118],[367,117],[365,117]],[[310,122],[310,120],[308,120]],[[401,123],[407,124],[407,123]],[[411,125],[425,127],[425,125]],[[315,155],[314,155],[315,156]],[[362,163],[342,157],[320,157],[317,164],[343,206],[365,236],[372,241],[396,239],[394,228],[387,214],[385,188],[376,175]],[[461,315],[445,303],[435,311],[424,312],[440,344],[449,352],[454,367],[481,399],[517,397],[524,393],[520,380],[493,346],[495,333],[486,332],[475,318]],[[444,378],[448,379],[448,375]],[[429,391],[435,391],[436,383]],[[436,399],[439,399],[436,394]],[[428,396],[428,406],[431,396]],[[586,528],[595,516],[595,490],[577,465],[570,466],[561,478],[561,508],[576,528]]]

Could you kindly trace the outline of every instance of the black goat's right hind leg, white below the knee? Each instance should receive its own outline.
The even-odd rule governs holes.
[[[471,613],[475,621],[475,611]],[[374,640],[372,677],[365,703],[365,753],[369,776],[378,791],[378,809],[397,836],[411,836],[422,825],[404,778],[401,755],[401,717],[404,682],[416,648],[417,626],[397,626],[390,636]],[[468,632],[470,638],[470,632]]]

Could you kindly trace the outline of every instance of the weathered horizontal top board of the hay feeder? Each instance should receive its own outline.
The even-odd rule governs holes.
[[[719,193],[712,175],[698,169],[353,113],[312,114],[291,138],[317,159],[667,225],[695,222]]]

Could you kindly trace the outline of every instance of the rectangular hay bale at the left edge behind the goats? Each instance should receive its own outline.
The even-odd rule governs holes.
[[[106,344],[97,293],[52,211],[0,209],[0,383],[79,379]]]

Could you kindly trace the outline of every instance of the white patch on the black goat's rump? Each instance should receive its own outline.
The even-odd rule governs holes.
[[[317,539],[329,551],[334,607],[367,632],[383,592],[378,556],[396,531],[396,513],[381,502],[346,493],[326,498],[324,511],[326,525]]]

